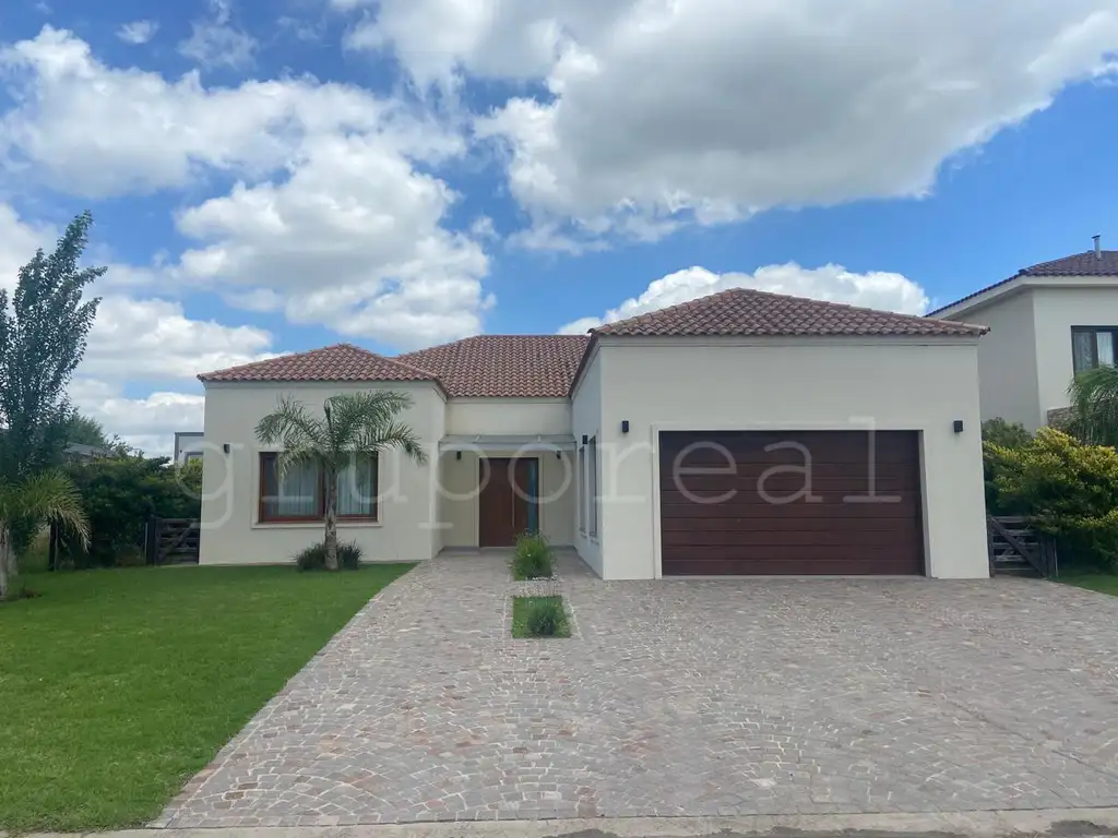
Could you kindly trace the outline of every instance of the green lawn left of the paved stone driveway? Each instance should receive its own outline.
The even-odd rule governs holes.
[[[0,830],[136,826],[411,565],[36,574],[0,604]]]

